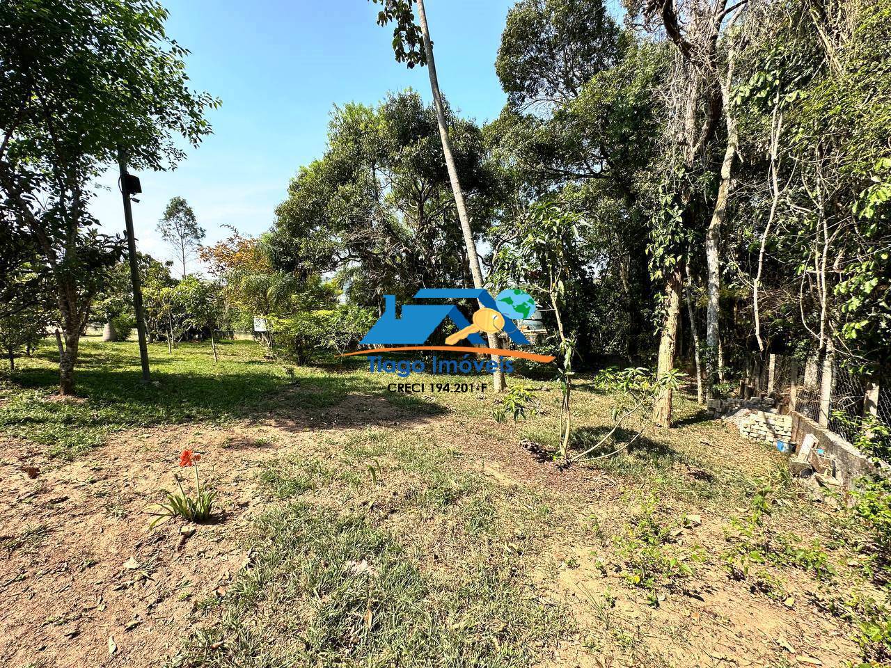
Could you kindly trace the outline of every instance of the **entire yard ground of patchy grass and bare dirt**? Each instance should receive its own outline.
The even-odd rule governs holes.
[[[82,399],[53,399],[49,346],[0,397],[4,664],[800,666],[872,651],[845,607],[877,595],[859,527],[689,398],[677,428],[560,469],[551,381],[512,380],[538,404],[514,423],[491,394],[389,392],[362,360],[297,367],[224,342],[215,364],[203,344],[151,346],[158,384],[143,386],[135,344],[82,350]],[[584,378],[575,396],[581,446],[611,398]],[[203,456],[215,520],[149,531],[184,447]]]

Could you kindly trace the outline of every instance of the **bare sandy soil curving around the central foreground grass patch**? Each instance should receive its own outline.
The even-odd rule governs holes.
[[[647,452],[661,453],[655,459],[645,452],[628,459],[632,468],[561,470],[520,444],[528,433],[522,426],[490,419],[470,428],[481,420],[455,410],[419,415],[411,405],[373,393],[347,394],[330,407],[301,405],[300,397],[284,387],[265,414],[225,427],[122,431],[69,462],[47,459],[27,441],[0,440],[0,664],[176,663],[196,616],[251,566],[254,520],[275,502],[259,487],[258,470],[276,458],[331,456],[339,439],[365,428],[372,415],[378,426],[408,429],[458,452],[458,465],[490,480],[508,508],[514,490],[560,499],[558,517],[572,520],[550,527],[527,566],[536,591],[567,608],[573,631],[543,650],[543,664],[857,661],[854,630],[827,612],[826,593],[813,574],[783,569],[784,594],[776,599],[721,566],[730,519],[748,512],[745,491],[733,485],[778,462],[776,453],[741,440],[732,428],[691,419],[653,436]],[[203,455],[200,474],[219,493],[217,520],[197,527],[168,522],[150,531],[151,504],[162,490],[175,488],[176,459],[186,447]],[[703,492],[712,486],[731,491]],[[705,555],[694,574],[653,589],[655,599],[629,584],[619,547],[648,496],[656,499],[658,516],[675,527],[665,550]],[[815,509],[793,491],[775,519],[808,539],[831,540],[836,512]],[[836,550],[832,558],[844,564],[844,547]]]

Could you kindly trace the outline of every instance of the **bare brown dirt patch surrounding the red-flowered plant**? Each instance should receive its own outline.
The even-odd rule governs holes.
[[[248,558],[254,474],[276,449],[265,436],[246,425],[129,432],[62,465],[0,443],[0,663],[148,666],[176,653],[193,606]],[[149,531],[185,446],[219,491],[216,521],[191,536],[178,521]]]

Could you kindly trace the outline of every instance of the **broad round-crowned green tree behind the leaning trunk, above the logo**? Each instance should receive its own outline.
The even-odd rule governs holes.
[[[475,220],[489,215],[495,183],[477,126],[449,115],[455,161]],[[322,159],[300,169],[276,209],[268,240],[274,268],[307,279],[339,272],[359,304],[410,297],[431,285],[470,285],[437,115],[420,95],[388,96],[377,108],[335,108]]]

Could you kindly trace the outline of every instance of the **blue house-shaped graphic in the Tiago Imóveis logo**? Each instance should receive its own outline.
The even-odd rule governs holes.
[[[498,319],[498,329],[502,330],[513,343],[528,346],[529,340],[509,318],[504,317],[498,303],[484,289],[420,289],[415,299],[476,299],[483,306],[480,311],[491,310]],[[478,312],[479,313],[479,312]],[[401,314],[396,314],[396,296],[384,296],[384,313],[374,323],[360,343],[368,346],[423,346],[430,335],[446,319],[454,322],[459,330],[473,329],[470,321],[454,304],[405,304]],[[477,322],[477,316],[474,316]],[[486,341],[478,332],[470,333],[467,340],[476,345]]]

